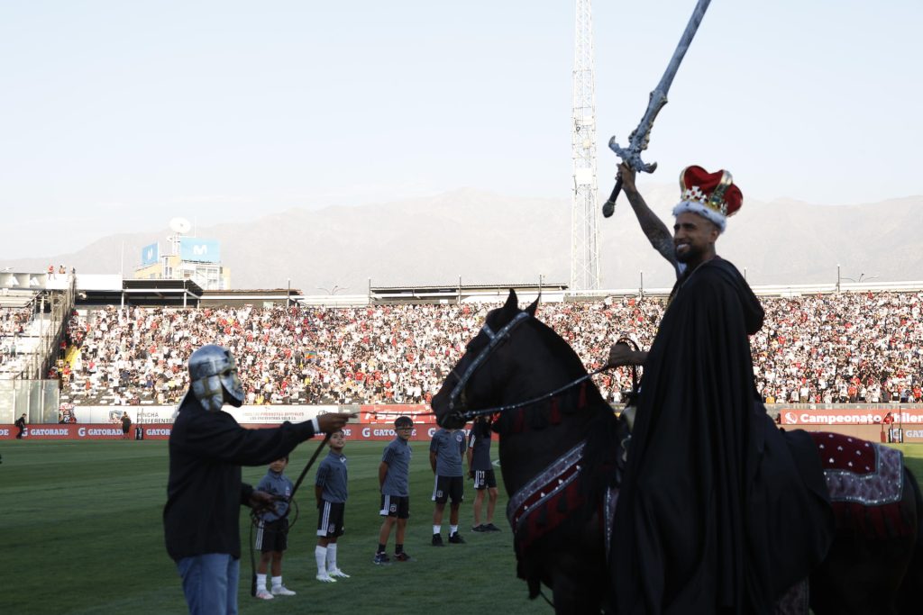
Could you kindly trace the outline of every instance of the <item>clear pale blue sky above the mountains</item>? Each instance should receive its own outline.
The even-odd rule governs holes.
[[[694,5],[594,2],[603,193]],[[713,0],[643,182],[923,194],[921,26],[919,0]],[[567,0],[3,3],[0,257],[462,186],[568,199],[573,39]]]

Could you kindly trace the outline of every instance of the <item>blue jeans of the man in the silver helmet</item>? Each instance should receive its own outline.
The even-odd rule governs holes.
[[[207,553],[176,562],[183,578],[189,615],[237,615],[240,560],[227,553]]]

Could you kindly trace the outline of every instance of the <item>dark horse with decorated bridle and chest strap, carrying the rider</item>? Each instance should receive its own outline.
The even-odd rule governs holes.
[[[506,305],[488,313],[432,406],[438,423],[448,428],[462,427],[473,416],[492,417],[517,574],[530,597],[544,584],[557,613],[613,612],[607,520],[613,516],[627,427],[587,379],[568,343],[534,318],[536,304],[523,312],[510,292]],[[840,438],[822,435],[828,436]],[[834,502],[833,546],[809,579],[810,607],[817,615],[919,612],[914,594],[923,589],[923,500],[909,470],[899,465],[896,473],[900,491],[893,516],[861,503],[846,501],[837,508]],[[837,485],[831,479],[840,474],[825,468],[832,499]],[[899,536],[894,518],[905,526]],[[778,612],[805,612],[797,602],[780,603]]]

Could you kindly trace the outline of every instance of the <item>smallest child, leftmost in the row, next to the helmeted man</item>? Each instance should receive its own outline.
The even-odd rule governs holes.
[[[288,466],[288,455],[276,459],[257,485],[257,491],[266,491],[275,499],[274,509],[259,515],[257,549],[260,550],[257,567],[257,597],[271,600],[276,596],[294,596],[294,591],[282,585],[282,553],[288,549],[289,499],[292,497],[292,481],[282,472]],[[266,591],[266,568],[271,562],[272,588]]]

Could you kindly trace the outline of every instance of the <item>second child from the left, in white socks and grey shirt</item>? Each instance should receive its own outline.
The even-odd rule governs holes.
[[[343,432],[330,435],[330,453],[318,466],[314,482],[314,495],[318,500],[318,546],[314,559],[318,562],[318,581],[335,583],[333,577],[349,578],[337,566],[337,538],[343,534],[343,514],[346,508],[347,479]]]

